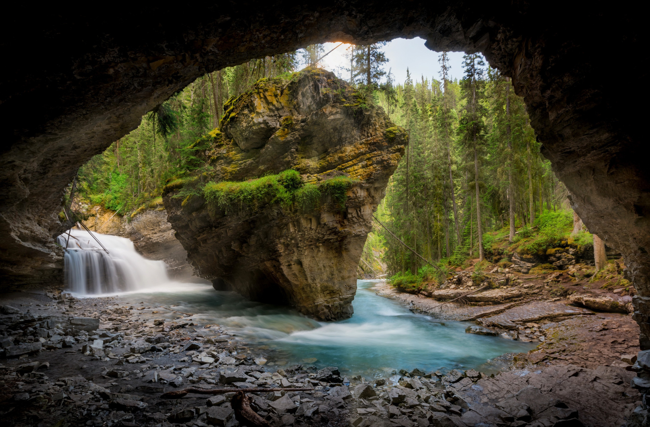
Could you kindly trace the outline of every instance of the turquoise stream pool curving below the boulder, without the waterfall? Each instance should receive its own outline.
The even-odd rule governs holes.
[[[378,296],[372,289],[376,283],[358,280],[354,315],[337,322],[317,322],[289,307],[247,301],[235,292],[214,291],[209,285],[178,283],[176,287],[118,299],[125,304],[142,302],[148,307],[175,305],[174,310],[192,314],[192,321],[201,327],[223,325],[246,341],[254,354],[265,354],[268,365],[276,365],[276,369],[296,363],[318,368],[336,366],[348,375],[363,374],[367,378],[383,378],[393,370],[413,368],[427,372],[478,369],[489,373],[505,367],[498,356],[535,347],[465,333],[473,322],[441,321],[411,313],[403,304]],[[148,312],[143,310],[142,316],[168,313]],[[209,335],[209,330],[196,330]]]

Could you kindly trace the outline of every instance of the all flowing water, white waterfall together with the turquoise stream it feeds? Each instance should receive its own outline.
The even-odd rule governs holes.
[[[465,333],[471,322],[413,314],[403,304],[375,294],[372,287],[378,281],[357,281],[351,318],[317,322],[291,307],[248,301],[211,285],[170,281],[162,261],[144,259],[122,237],[73,230],[70,238],[59,237],[59,244],[68,248],[66,279],[75,296],[112,296],[120,305],[145,307],[135,311],[142,319],[181,316],[157,309],[173,307],[192,315],[203,335],[214,335],[215,324],[234,331],[234,339],[245,342],[253,356],[265,356],[267,365],[276,369],[298,363],[337,366],[346,375],[369,378],[413,368],[494,372],[505,367],[500,355],[535,346]],[[207,324],[213,327],[203,328]]]

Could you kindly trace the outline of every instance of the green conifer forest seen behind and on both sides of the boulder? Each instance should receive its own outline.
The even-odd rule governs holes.
[[[351,46],[349,67],[339,70],[409,133],[376,214],[392,234],[375,224],[361,270],[385,269],[393,279],[418,282],[439,274],[423,258],[443,268],[491,261],[495,240],[512,243],[532,234],[553,240],[572,227],[564,186],[539,153],[523,99],[507,77],[470,54],[463,57],[463,77],[450,79],[443,52],[432,53],[441,70],[435,78],[407,73],[406,81],[396,82],[383,45]],[[197,79],[85,164],[79,196],[127,217],[161,205],[166,180],[209,167],[198,159],[203,148],[196,142],[218,126],[228,99],[259,79],[317,67],[325,53],[322,45],[310,45]]]

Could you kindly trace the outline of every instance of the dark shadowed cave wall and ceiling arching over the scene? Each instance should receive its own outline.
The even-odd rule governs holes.
[[[623,253],[639,292],[642,347],[650,347],[645,111],[632,107],[638,91],[613,77],[621,70],[647,79],[639,57],[646,25],[637,10],[366,0],[269,7],[244,0],[192,3],[174,13],[131,5],[98,16],[66,7],[32,8],[0,29],[8,63],[0,82],[4,285],[60,278],[62,253],[52,236],[60,232],[62,188],[144,112],[206,71],[316,42],[420,36],[431,49],[480,51],[512,77],[580,218]]]

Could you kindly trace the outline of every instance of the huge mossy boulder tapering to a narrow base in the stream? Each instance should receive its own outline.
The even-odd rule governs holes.
[[[350,317],[372,213],[406,138],[329,71],[264,79],[229,100],[220,130],[203,140],[214,172],[172,181],[164,204],[217,289],[323,320]]]

